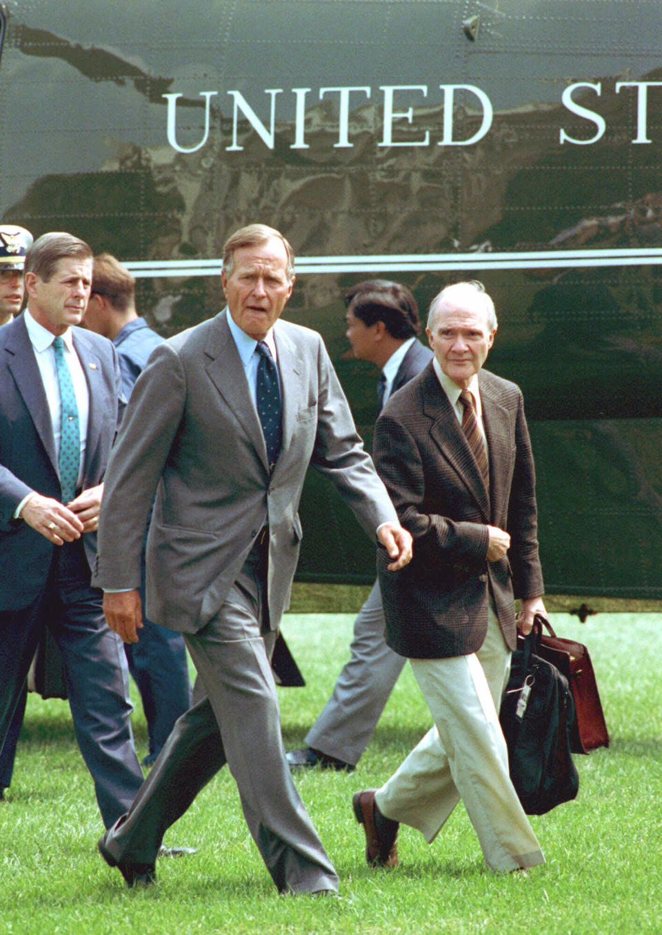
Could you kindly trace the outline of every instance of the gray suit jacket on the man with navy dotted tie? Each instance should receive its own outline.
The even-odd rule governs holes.
[[[322,338],[283,321],[274,337],[283,441],[271,477],[224,310],[157,348],[131,396],[108,464],[93,580],[137,587],[156,490],[147,609],[171,629],[194,632],[209,623],[265,525],[269,619],[279,626],[302,538],[297,508],[309,464],[335,482],[370,537],[396,519]]]

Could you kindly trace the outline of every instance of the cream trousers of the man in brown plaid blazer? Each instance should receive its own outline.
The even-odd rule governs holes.
[[[462,798],[488,867],[506,872],[543,863],[511,783],[498,721],[511,653],[493,608],[478,653],[410,665],[435,726],[378,790],[381,813],[434,841]]]

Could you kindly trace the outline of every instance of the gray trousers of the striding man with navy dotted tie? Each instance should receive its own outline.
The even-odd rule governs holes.
[[[276,633],[260,627],[263,576],[251,561],[219,615],[184,639],[207,693],[175,724],[129,812],[110,828],[118,861],[151,863],[165,830],[227,763],[252,838],[279,890],[338,889],[338,875],[295,789],[281,740],[269,656]],[[196,686],[195,698],[200,695]]]

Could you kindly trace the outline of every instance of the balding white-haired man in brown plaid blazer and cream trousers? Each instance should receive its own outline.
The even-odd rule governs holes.
[[[370,863],[396,863],[400,822],[433,841],[460,798],[492,870],[543,860],[498,722],[517,626],[545,611],[522,394],[482,369],[496,333],[481,283],[444,289],[428,318],[434,359],[376,427],[377,467],[414,539],[407,568],[387,576],[380,562],[386,640],[435,726],[381,789],[353,798]]]

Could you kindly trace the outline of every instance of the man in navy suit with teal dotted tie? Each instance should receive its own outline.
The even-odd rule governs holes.
[[[25,256],[27,309],[0,329],[0,743],[48,625],[108,827],[135,797],[142,773],[122,643],[90,585],[123,398],[112,345],[76,327],[91,280],[86,243],[39,237]]]

